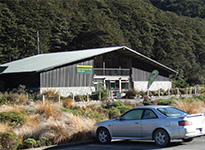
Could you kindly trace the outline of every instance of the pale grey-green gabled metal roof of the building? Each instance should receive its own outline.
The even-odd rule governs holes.
[[[171,71],[173,73],[177,73],[176,71],[125,46],[39,54],[39,55],[2,64],[0,65],[0,70],[2,74],[19,73],[19,72],[41,72],[44,70],[49,70],[55,67],[59,67],[62,65],[70,64],[76,61],[80,61],[83,59],[91,58],[97,55],[105,54],[115,50],[122,50],[122,49],[131,52],[133,55],[141,56],[144,59],[151,61],[152,63],[162,66],[164,69],[168,70],[169,72]]]

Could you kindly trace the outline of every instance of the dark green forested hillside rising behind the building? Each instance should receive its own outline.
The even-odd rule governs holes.
[[[204,0],[200,14],[162,2],[0,0],[0,63],[37,54],[38,30],[41,53],[125,45],[178,71],[178,83],[202,83]]]

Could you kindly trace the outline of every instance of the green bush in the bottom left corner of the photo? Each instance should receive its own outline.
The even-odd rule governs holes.
[[[0,149],[16,150],[22,144],[21,139],[11,132],[0,133]]]

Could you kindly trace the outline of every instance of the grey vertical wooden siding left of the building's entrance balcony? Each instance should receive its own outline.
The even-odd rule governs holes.
[[[91,86],[93,74],[78,74],[76,65],[91,65],[93,60],[88,60],[68,66],[60,67],[40,74],[41,87],[83,87]]]

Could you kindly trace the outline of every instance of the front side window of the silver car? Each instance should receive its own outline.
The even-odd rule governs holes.
[[[121,117],[121,120],[138,120],[142,117],[143,110],[142,109],[134,109]]]

